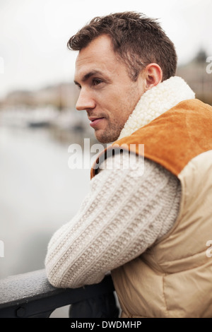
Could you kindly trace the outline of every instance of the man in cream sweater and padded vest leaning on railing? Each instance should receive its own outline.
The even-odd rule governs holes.
[[[80,211],[49,242],[50,283],[81,287],[111,271],[122,317],[210,317],[212,107],[175,76],[174,45],[139,13],[94,18],[68,45],[79,51],[76,109],[98,141],[126,148],[101,155]]]

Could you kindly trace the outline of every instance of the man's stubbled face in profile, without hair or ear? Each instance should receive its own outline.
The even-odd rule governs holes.
[[[76,109],[86,110],[98,141],[116,141],[145,90],[141,78],[129,78],[110,37],[101,35],[81,49],[74,81],[81,89]]]

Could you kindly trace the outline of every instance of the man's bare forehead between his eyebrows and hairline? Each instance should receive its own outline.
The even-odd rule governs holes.
[[[112,49],[110,37],[102,35],[81,49],[76,58],[75,79],[80,80],[90,71],[114,71],[119,61]]]

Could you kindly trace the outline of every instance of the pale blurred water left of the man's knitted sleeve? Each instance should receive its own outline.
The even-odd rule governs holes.
[[[47,129],[0,127],[0,278],[44,268],[52,233],[88,193],[90,170],[68,167],[70,144]]]

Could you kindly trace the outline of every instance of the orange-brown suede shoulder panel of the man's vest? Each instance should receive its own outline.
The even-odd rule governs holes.
[[[130,151],[139,153],[144,144],[144,156],[177,175],[189,160],[212,150],[212,107],[200,100],[185,100],[157,117],[151,123],[112,143],[105,149],[90,170],[94,177],[101,158],[110,150],[125,144]],[[134,145],[131,146],[130,145]]]

